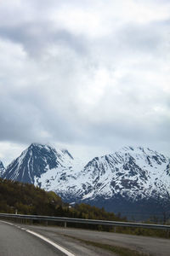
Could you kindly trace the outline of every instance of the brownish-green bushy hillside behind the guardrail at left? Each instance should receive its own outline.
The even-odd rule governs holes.
[[[20,183],[0,178],[0,212],[30,215],[61,216],[68,218],[97,218],[104,220],[125,221],[105,209],[86,204],[69,207],[53,191],[35,187],[32,184]]]

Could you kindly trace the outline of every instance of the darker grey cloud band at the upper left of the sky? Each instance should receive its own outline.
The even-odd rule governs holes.
[[[65,29],[51,29],[53,23],[31,22],[18,26],[0,26],[0,37],[21,44],[28,54],[41,55],[53,44],[63,44],[77,54],[87,54],[86,39],[75,36]]]

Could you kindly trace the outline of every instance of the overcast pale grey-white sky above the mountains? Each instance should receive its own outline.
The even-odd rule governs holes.
[[[1,0],[0,160],[30,143],[170,155],[169,0]]]

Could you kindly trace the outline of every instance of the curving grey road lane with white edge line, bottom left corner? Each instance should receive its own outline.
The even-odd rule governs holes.
[[[56,230],[56,229],[55,229]],[[37,237],[40,236],[40,237]],[[44,239],[47,239],[44,241]],[[50,242],[50,243],[49,243]],[[59,248],[58,248],[59,247]],[[63,250],[63,251],[61,251]],[[0,221],[0,256],[113,256],[54,230]]]

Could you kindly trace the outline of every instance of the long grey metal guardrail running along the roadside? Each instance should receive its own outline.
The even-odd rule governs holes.
[[[119,221],[107,221],[99,219],[86,219],[86,218],[65,218],[65,217],[51,217],[51,216],[39,216],[39,215],[24,215],[24,214],[10,214],[0,213],[0,218],[19,218],[19,219],[30,219],[30,220],[43,220],[53,222],[65,223],[77,223],[77,224],[97,224],[97,225],[110,225],[119,227],[133,227],[133,228],[144,228],[144,229],[155,229],[155,230],[170,230],[170,225],[162,224],[142,224],[142,223],[130,223],[130,222],[119,222]]]

